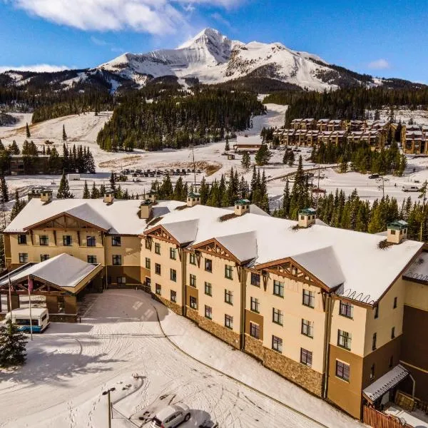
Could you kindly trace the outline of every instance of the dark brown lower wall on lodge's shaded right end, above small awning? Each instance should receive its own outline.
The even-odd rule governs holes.
[[[389,372],[392,367],[399,363],[402,350],[402,335],[386,343],[377,350],[370,352],[364,359],[362,366],[362,389],[368,387],[379,377]],[[392,367],[389,367],[389,360],[392,357]],[[370,369],[374,365],[374,379],[370,379]]]

